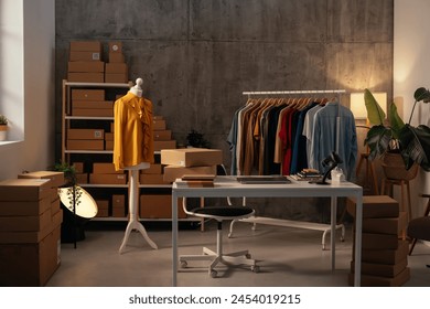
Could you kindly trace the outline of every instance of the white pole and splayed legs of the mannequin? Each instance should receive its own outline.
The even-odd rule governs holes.
[[[126,234],[122,239],[122,244],[119,247],[119,254],[122,254],[123,248],[127,245],[128,238],[131,231],[137,230],[142,234],[147,243],[154,249],[158,249],[158,246],[151,238],[148,236],[147,231],[143,225],[138,220],[139,211],[139,169],[129,169],[129,221],[126,228]]]

